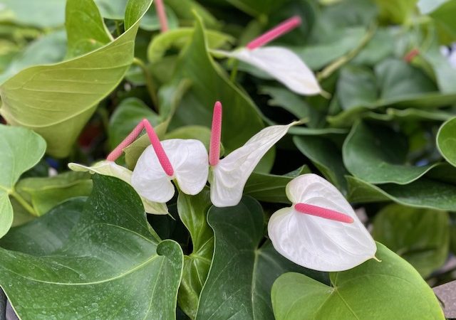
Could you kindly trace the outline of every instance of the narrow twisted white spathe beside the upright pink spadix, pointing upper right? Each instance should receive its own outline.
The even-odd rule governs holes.
[[[247,179],[261,158],[294,124],[266,127],[255,134],[244,146],[232,151],[212,166],[211,201],[217,207],[236,206],[242,198]]]

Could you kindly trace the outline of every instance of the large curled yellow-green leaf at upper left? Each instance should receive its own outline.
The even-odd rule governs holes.
[[[108,45],[62,63],[22,70],[6,80],[0,86],[1,115],[41,134],[49,154],[67,156],[98,102],[118,85],[132,63],[139,19],[151,1],[128,2],[128,30]]]

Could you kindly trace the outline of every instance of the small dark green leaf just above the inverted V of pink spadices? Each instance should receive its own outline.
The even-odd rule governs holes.
[[[160,122],[157,113],[145,105],[142,100],[136,97],[122,100],[109,119],[108,136],[110,149],[118,146],[142,119],[149,120],[154,127]]]

